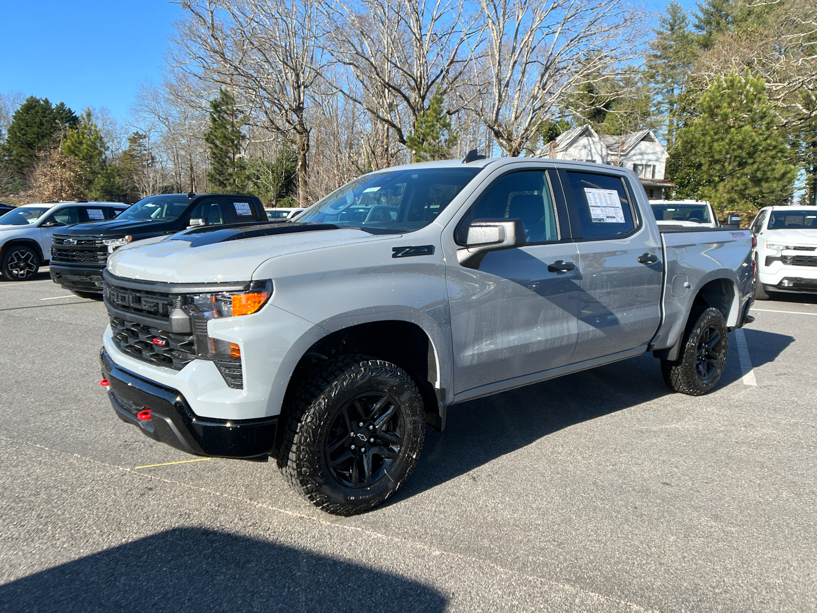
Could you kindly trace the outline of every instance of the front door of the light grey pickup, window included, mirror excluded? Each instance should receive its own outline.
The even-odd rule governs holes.
[[[458,243],[471,221],[498,217],[525,222],[525,247],[448,266],[454,393],[566,365],[576,344],[578,249],[543,168],[494,181],[459,223]]]

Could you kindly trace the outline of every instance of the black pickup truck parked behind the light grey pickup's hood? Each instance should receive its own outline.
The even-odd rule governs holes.
[[[114,220],[81,223],[55,233],[51,280],[78,296],[101,300],[108,256],[124,244],[195,226],[265,221],[264,206],[255,196],[192,192],[148,196]]]

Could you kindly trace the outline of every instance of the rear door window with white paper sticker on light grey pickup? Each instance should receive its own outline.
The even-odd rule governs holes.
[[[591,172],[565,172],[565,191],[578,212],[585,239],[614,239],[635,229],[632,208],[621,177]]]

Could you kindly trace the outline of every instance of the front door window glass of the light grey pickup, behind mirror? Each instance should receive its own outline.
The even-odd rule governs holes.
[[[551,190],[542,170],[511,172],[495,181],[458,226],[458,242],[465,244],[471,221],[485,218],[521,219],[528,244],[559,239]]]

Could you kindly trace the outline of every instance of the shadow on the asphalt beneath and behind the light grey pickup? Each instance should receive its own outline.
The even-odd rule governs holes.
[[[755,367],[775,360],[794,341],[751,328],[746,338]],[[731,333],[729,357],[714,391],[742,376]],[[393,500],[431,489],[563,428],[675,393],[663,383],[659,360],[646,354],[455,405],[444,432],[426,429],[417,468]]]

